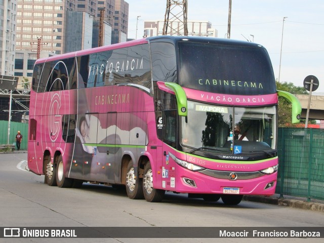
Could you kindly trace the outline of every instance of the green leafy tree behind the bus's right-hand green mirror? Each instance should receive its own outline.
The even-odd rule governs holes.
[[[287,91],[292,94],[308,94],[304,87],[295,86],[293,83],[276,81],[277,90]],[[313,121],[314,122],[314,121]],[[305,123],[301,119],[301,123]],[[294,127],[292,124],[292,104],[283,97],[278,99],[278,126],[279,127]]]

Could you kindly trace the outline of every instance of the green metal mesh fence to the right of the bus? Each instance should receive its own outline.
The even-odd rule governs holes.
[[[280,196],[324,200],[324,129],[279,128]]]

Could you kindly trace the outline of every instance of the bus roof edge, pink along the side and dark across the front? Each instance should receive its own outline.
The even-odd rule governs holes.
[[[131,41],[127,41],[127,42],[121,42],[121,43],[117,43],[117,44],[105,45],[105,46],[101,46],[101,47],[95,47],[95,48],[90,48],[87,50],[76,51],[76,52],[71,52],[71,53],[66,53],[66,54],[61,54],[61,55],[55,55],[55,56],[51,56],[51,57],[47,57],[47,58],[41,58],[41,59],[37,59],[35,64],[44,63],[47,61],[55,61],[55,60],[61,60],[61,59],[66,59],[66,58],[72,58],[72,57],[77,57],[77,56],[84,56],[84,55],[89,55],[91,53],[97,53],[97,52],[102,52],[102,51],[114,50],[117,48],[123,48],[123,47],[147,43],[148,41],[155,42],[155,41],[161,41],[161,40],[166,41],[166,42],[172,42],[174,44],[178,41],[193,41],[193,42],[200,42],[200,43],[214,43],[214,44],[220,44],[220,45],[240,45],[240,46],[247,46],[247,47],[248,46],[262,47],[262,45],[254,43],[254,42],[225,39],[225,38],[215,38],[215,37],[205,37],[205,36],[161,35],[161,36],[147,37],[147,38],[138,39],[138,40],[131,40]]]

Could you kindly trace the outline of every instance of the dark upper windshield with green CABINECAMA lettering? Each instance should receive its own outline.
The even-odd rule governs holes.
[[[222,94],[275,93],[264,47],[179,42],[180,85]]]

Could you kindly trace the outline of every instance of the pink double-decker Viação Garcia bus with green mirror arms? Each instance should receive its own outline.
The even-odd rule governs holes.
[[[252,42],[158,36],[39,59],[28,167],[51,186],[125,185],[148,202],[272,195],[278,95],[298,122]]]

